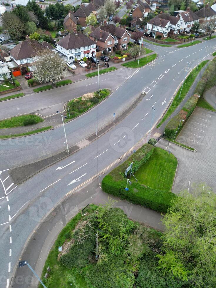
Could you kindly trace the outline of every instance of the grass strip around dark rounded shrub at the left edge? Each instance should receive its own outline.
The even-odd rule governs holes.
[[[34,119],[35,124],[44,121],[43,118],[41,118],[37,115],[30,115],[30,114],[21,115],[21,116],[12,117],[9,119],[1,120],[0,121],[0,129],[15,128],[15,127],[19,127],[19,126],[24,126],[24,121],[26,119]]]

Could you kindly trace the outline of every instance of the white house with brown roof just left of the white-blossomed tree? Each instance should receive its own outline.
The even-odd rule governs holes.
[[[11,49],[10,54],[18,65],[20,72],[26,74],[27,67],[29,71],[35,70],[34,62],[38,59],[38,51],[44,49],[47,48],[35,39],[30,39],[29,36],[26,36],[26,40],[19,42],[19,44]]]

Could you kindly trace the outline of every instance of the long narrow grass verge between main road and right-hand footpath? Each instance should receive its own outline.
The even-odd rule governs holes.
[[[208,60],[201,62],[197,68],[193,69],[190,74],[187,76],[184,85],[182,87],[181,96],[180,91],[181,87],[179,88],[177,94],[175,95],[172,104],[170,105],[170,108],[167,110],[165,115],[163,116],[160,123],[157,125],[157,128],[159,128],[169,117],[170,115],[175,111],[175,109],[179,106],[179,104],[182,102],[182,100],[187,95],[191,85],[193,84],[194,80],[196,79],[197,75],[199,74],[200,70],[205,66],[205,64],[208,62]]]

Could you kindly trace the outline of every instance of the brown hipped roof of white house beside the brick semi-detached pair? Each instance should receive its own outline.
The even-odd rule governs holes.
[[[95,44],[95,42],[79,31],[77,32],[77,35],[74,32],[68,34],[58,41],[57,44],[66,50],[69,50],[89,46]]]

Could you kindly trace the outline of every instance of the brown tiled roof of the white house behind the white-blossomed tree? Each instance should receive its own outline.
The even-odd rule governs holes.
[[[41,43],[36,40],[27,40],[19,42],[13,49],[11,49],[10,54],[15,60],[21,60],[25,58],[31,58],[38,55],[38,51],[46,49]]]

